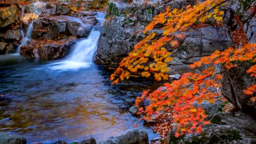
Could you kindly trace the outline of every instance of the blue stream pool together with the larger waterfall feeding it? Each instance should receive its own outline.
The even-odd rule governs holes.
[[[0,56],[0,94],[5,97],[0,100],[1,132],[23,135],[28,144],[89,137],[98,143],[137,128],[157,137],[128,109],[144,89],[156,89],[159,83],[131,79],[111,85],[112,71],[92,63],[104,14],[97,16],[98,25],[65,59]]]

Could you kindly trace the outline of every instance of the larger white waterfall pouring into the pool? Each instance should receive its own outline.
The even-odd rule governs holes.
[[[79,68],[88,68],[93,61],[97,50],[97,43],[100,37],[100,30],[103,27],[104,13],[97,13],[98,24],[91,31],[86,39],[80,40],[73,47],[73,52],[67,56],[67,59],[61,62],[51,64],[53,70],[77,70]]]

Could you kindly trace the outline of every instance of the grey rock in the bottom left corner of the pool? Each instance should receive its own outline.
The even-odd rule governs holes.
[[[24,137],[19,137],[5,132],[0,132],[0,144],[26,144]]]

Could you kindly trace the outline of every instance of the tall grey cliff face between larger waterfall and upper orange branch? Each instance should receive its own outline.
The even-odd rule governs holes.
[[[154,16],[165,10],[167,5],[180,9],[185,8],[187,4],[186,0],[152,0],[148,3],[133,0],[131,5],[127,1],[110,1],[107,19],[98,41],[95,63],[118,65],[144,37],[142,30]]]

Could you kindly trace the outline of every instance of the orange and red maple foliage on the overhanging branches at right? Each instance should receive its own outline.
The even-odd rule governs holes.
[[[146,26],[144,34],[147,37],[137,45],[134,50],[122,60],[116,71],[110,76],[113,84],[120,80],[129,79],[132,73],[140,73],[143,77],[154,76],[157,81],[168,79],[167,62],[171,61],[171,51],[180,45],[180,40],[185,39],[182,34],[175,34],[177,31],[189,30],[195,23],[204,23],[210,18],[221,22],[223,11],[220,6],[228,0],[206,0],[202,3],[188,5],[186,10],[173,9],[169,7],[165,12],[160,13],[153,21]],[[150,31],[160,26],[164,31],[161,36]],[[167,50],[171,47],[172,50]],[[205,101],[213,103],[221,95],[219,89],[222,87],[220,80],[224,71],[215,71],[214,65],[222,64],[228,71],[232,68],[250,62],[252,65],[247,73],[256,77],[256,44],[242,43],[241,48],[228,48],[222,52],[216,50],[210,56],[202,57],[200,61],[190,65],[191,68],[200,67],[202,64],[210,65],[201,74],[185,73],[179,80],[172,83],[165,83],[166,91],[158,89],[149,93],[143,92],[141,97],[136,99],[136,105],[145,99],[150,99],[150,105],[140,107],[139,113],[143,113],[144,119],[149,119],[151,114],[162,110],[165,105],[173,106],[177,113],[173,116],[173,123],[178,124],[176,137],[186,133],[202,132],[202,126],[210,123],[205,121],[207,115],[200,105]],[[216,88],[217,91],[211,91]],[[252,85],[244,93],[252,95],[256,92],[256,85]],[[255,100],[256,98],[252,98]]]

